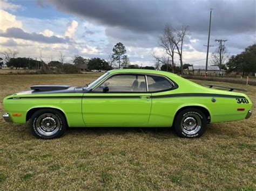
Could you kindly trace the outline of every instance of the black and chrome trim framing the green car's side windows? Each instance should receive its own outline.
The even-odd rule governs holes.
[[[159,90],[159,91],[149,91],[148,89],[148,84],[147,84],[147,77],[146,77],[146,91],[131,91],[131,92],[125,92],[125,91],[115,91],[115,92],[111,92],[111,94],[139,94],[139,93],[159,93],[159,92],[164,92],[164,91],[170,91],[170,90],[174,90],[177,89],[179,86],[176,82],[172,81],[171,79],[169,79],[169,77],[160,75],[160,74],[151,74],[151,73],[130,73],[130,72],[123,72],[123,73],[114,73],[111,74],[110,76],[106,76],[105,79],[103,79],[102,81],[100,81],[98,84],[95,85],[95,87],[92,88],[92,90],[89,93],[94,93],[94,94],[101,94],[103,92],[93,92],[93,90],[95,90],[98,86],[100,86],[100,84],[104,83],[106,80],[110,79],[110,77],[114,76],[114,75],[143,75],[143,76],[158,76],[158,77],[163,77],[164,79],[166,79],[169,83],[171,83],[173,85],[172,88],[169,89],[165,89],[165,90]],[[104,94],[108,94],[108,93],[104,93]]]

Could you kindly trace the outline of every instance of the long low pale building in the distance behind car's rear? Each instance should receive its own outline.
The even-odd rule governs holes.
[[[184,73],[193,75],[205,75],[205,66],[188,66],[188,69],[185,69]],[[220,70],[219,66],[207,66],[207,74],[226,74],[226,70]]]

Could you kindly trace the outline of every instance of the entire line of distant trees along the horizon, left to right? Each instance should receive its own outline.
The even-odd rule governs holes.
[[[59,59],[50,61],[47,64],[43,60],[42,52],[37,59],[32,58],[16,58],[18,52],[8,49],[2,53],[0,57],[0,68],[4,61],[9,68],[15,69],[55,69],[57,72],[63,73],[79,73],[80,67],[87,66],[87,70],[110,70],[113,68],[133,68],[133,69],[157,69],[167,72],[183,74],[183,70],[189,63],[183,63],[183,45],[187,35],[189,35],[188,26],[179,26],[173,28],[171,25],[166,25],[163,35],[159,37],[159,46],[164,49],[164,55],[159,57],[152,54],[156,59],[156,65],[153,66],[139,66],[131,65],[129,57],[126,55],[126,48],[122,43],[117,43],[109,54],[107,60],[100,58],[83,58],[75,55],[72,63],[65,63],[65,55],[59,52]],[[180,60],[180,66],[176,66],[174,62],[174,55],[177,54]],[[225,45],[219,46],[211,56],[211,63],[214,66],[219,66],[220,69],[225,69],[227,73],[241,73],[242,76],[249,73],[256,73],[256,44],[248,46],[245,51],[237,55],[229,56]],[[220,56],[221,55],[221,56]],[[170,64],[171,63],[171,64]]]

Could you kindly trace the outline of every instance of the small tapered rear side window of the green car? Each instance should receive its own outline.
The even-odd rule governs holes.
[[[173,87],[168,80],[159,76],[147,75],[147,84],[149,86],[149,91],[163,91]]]

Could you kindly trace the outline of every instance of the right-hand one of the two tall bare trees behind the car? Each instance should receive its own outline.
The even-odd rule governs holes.
[[[187,36],[188,34],[189,34],[189,27],[182,25],[177,27],[176,30],[174,30],[174,36],[172,38],[172,42],[177,49],[175,53],[179,55],[181,75],[183,75],[183,61],[182,61],[183,44],[184,44],[185,36]]]

